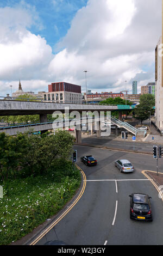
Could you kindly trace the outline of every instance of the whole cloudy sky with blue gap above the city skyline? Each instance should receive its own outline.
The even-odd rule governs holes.
[[[131,93],[154,81],[161,0],[1,0],[0,96],[70,82]]]

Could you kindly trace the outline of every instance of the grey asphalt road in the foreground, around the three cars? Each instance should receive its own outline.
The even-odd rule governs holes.
[[[124,153],[83,146],[78,150],[78,165],[86,174],[82,198],[37,245],[61,240],[67,245],[163,245],[163,205],[152,183],[141,173],[155,170],[151,155]],[[86,167],[80,157],[93,155],[98,164]],[[114,166],[117,159],[128,159],[134,173],[120,173]],[[159,160],[159,168],[163,159]],[[163,171],[163,170],[162,170]],[[152,197],[153,222],[130,220],[130,198],[133,192]],[[117,208],[116,208],[117,206]]]

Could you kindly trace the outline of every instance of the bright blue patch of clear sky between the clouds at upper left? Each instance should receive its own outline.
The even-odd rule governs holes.
[[[29,9],[35,10],[39,22],[39,26],[36,24],[31,26],[30,31],[45,38],[54,52],[54,45],[66,35],[73,17],[86,4],[87,0],[1,0],[0,7],[21,6],[27,9],[30,5]]]

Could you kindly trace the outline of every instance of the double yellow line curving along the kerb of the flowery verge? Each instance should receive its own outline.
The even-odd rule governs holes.
[[[71,204],[71,206],[66,210],[64,211],[63,214],[61,214],[57,220],[55,220],[51,225],[48,226],[47,229],[45,229],[41,235],[39,235],[32,243],[30,243],[30,245],[35,245],[40,239],[42,239],[43,236],[45,236],[55,225],[58,224],[58,222],[60,222],[62,220],[62,218],[64,218],[68,212],[74,207],[74,205],[77,204],[77,202],[79,201],[79,199],[82,197],[84,191],[85,191],[85,186],[86,186],[86,176],[85,176],[85,173],[83,172],[83,170],[77,166],[77,168],[80,170],[80,172],[82,173],[83,175],[83,186],[82,186],[82,190],[80,191],[79,193],[79,196],[77,197],[76,200],[74,200],[74,202]]]

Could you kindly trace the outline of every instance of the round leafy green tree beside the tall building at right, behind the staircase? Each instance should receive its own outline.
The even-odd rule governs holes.
[[[141,121],[149,118],[150,112],[154,114],[155,97],[152,94],[143,94],[140,96],[140,103],[134,109],[135,118]]]

